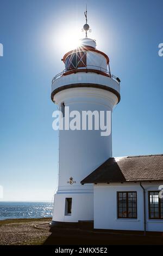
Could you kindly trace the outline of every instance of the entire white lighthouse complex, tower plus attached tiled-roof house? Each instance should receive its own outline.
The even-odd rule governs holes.
[[[52,100],[62,111],[111,111],[120,102],[120,79],[109,57],[86,37],[67,52],[65,70],[52,80]],[[111,123],[110,123],[111,126]],[[51,225],[94,221],[95,229],[163,231],[163,156],[112,158],[111,133],[59,131],[58,190]],[[146,162],[146,164],[144,164]],[[150,212],[149,212],[150,211]]]

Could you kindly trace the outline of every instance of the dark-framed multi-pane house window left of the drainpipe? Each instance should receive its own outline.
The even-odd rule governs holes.
[[[136,192],[117,192],[118,218],[137,218]]]

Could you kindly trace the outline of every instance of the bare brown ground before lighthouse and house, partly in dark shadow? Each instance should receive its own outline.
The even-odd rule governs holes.
[[[51,218],[0,221],[0,245],[162,245],[161,235],[49,228]],[[41,225],[40,225],[41,224]],[[36,227],[37,228],[36,228]]]

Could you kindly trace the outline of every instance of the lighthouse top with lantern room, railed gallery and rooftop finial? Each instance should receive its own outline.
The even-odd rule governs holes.
[[[52,100],[55,94],[72,87],[100,87],[113,92],[120,101],[120,79],[110,73],[109,57],[96,49],[96,40],[87,37],[91,32],[86,23],[83,26],[85,38],[79,40],[76,49],[67,52],[61,59],[65,69],[52,80]]]

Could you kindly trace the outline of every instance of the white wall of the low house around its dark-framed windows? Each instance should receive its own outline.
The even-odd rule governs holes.
[[[148,218],[148,191],[158,190],[161,183],[143,182],[146,189],[147,231],[163,231],[163,220]],[[117,192],[137,192],[137,219],[117,218]],[[94,228],[114,230],[143,230],[143,190],[139,183],[97,184],[94,186]]]

